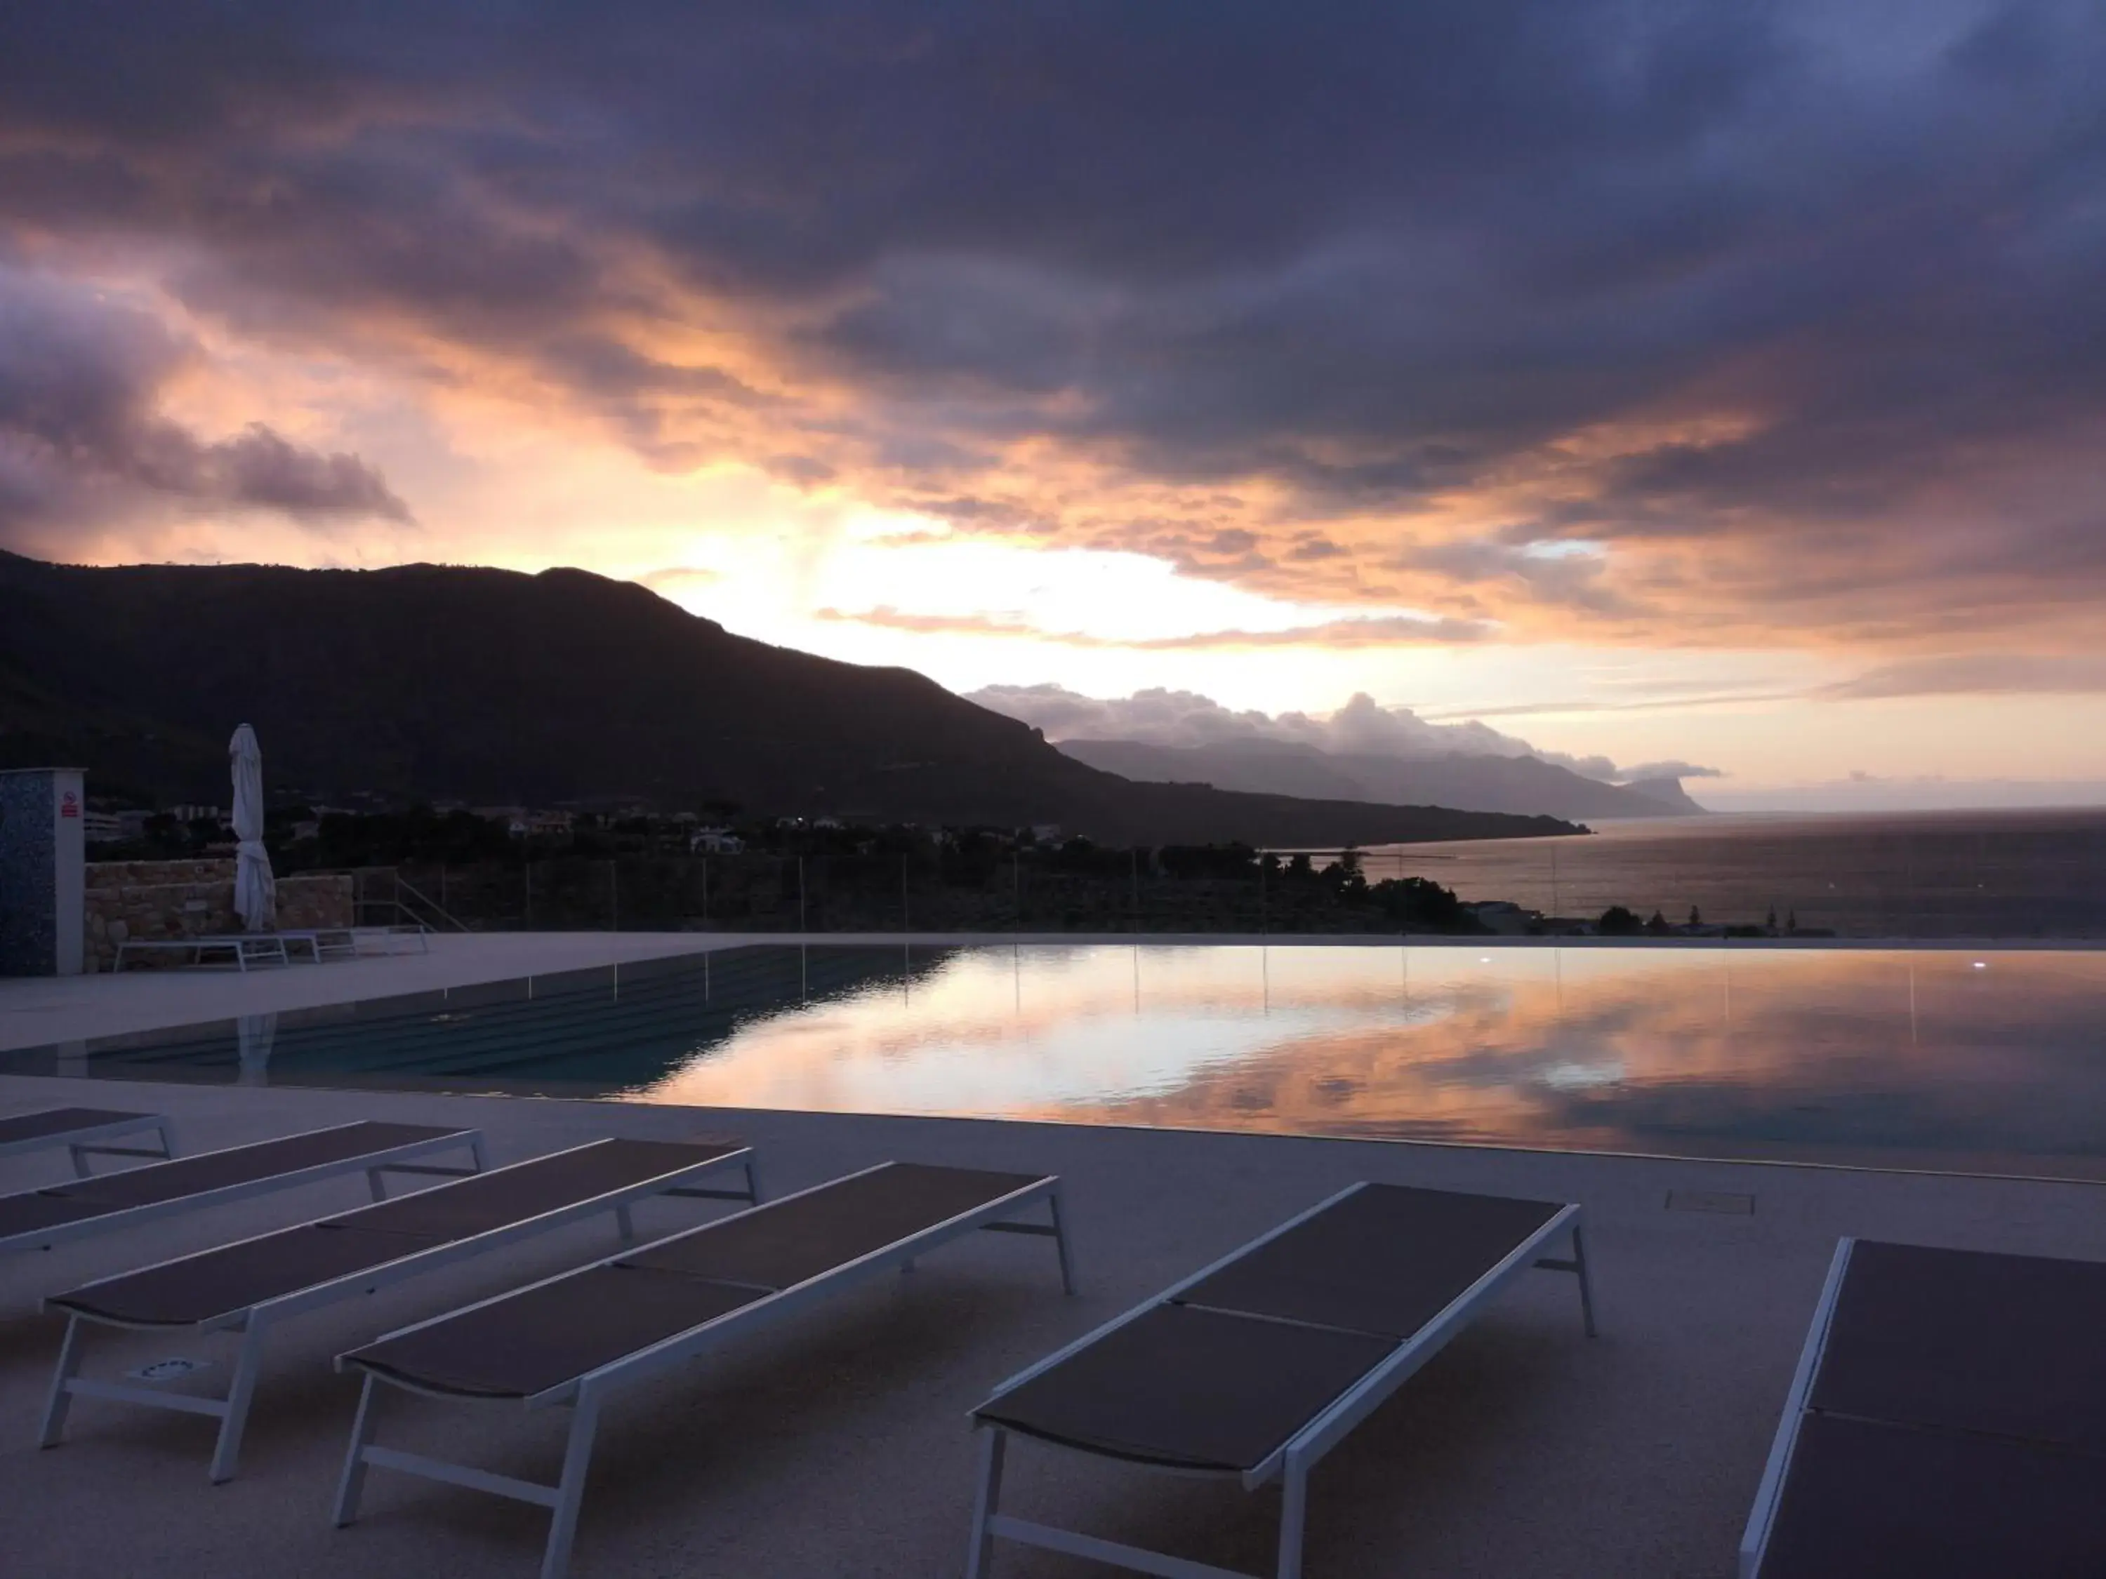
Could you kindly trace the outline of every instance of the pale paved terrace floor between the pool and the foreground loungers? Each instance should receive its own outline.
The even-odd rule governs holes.
[[[0,1078],[0,1112],[78,1101],[80,1082]],[[1796,1166],[1491,1152],[1384,1141],[712,1112],[503,1097],[97,1084],[173,1114],[185,1150],[356,1116],[476,1124],[495,1162],[596,1135],[750,1139],[771,1192],[882,1158],[1049,1168],[1072,1190],[1082,1295],[1040,1240],[979,1236],[855,1291],[672,1385],[619,1398],[600,1427],[579,1579],[956,1575],[973,1446],[967,1408],[1011,1371],[1352,1179],[1580,1200],[1601,1337],[1571,1278],[1527,1278],[1316,1474],[1312,1579],[1733,1573],[1733,1554],[1807,1316],[1839,1234],[2106,1257],[2098,1185]],[[61,1177],[63,1154],[0,1162],[0,1187]],[[1670,1211],[1668,1192],[1752,1196],[1752,1213]],[[211,1423],[74,1406],[34,1446],[59,1322],[38,1295],[185,1248],[360,1204],[358,1181],[223,1206],[173,1227],[0,1261],[0,1552],[38,1579],[444,1573],[529,1579],[537,1510],[375,1474],[364,1518],[329,1526],[356,1385],[329,1358],[379,1331],[613,1248],[583,1225],[286,1326],[242,1476],[206,1484]],[[1714,1202],[1718,1204],[1718,1202]],[[718,1211],[655,1202],[640,1230]],[[171,1354],[227,1377],[227,1339],[99,1331],[88,1373]],[[385,1440],[550,1478],[560,1419],[385,1398]],[[1021,1442],[1009,1501],[1207,1562],[1264,1573],[1276,1495],[1116,1472]],[[1007,1547],[1005,1579],[1087,1564]]]

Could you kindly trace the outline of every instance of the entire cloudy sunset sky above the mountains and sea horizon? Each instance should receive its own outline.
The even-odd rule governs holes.
[[[11,6],[0,547],[2106,800],[2102,82],[2095,0]]]

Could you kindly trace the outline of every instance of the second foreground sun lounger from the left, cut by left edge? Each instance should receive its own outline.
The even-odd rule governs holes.
[[[417,1162],[434,1152],[468,1150],[472,1168]],[[99,1173],[91,1179],[0,1196],[0,1253],[48,1251],[55,1244],[114,1234],[162,1217],[219,1206],[249,1196],[364,1173],[373,1198],[388,1173],[459,1177],[482,1166],[482,1133],[434,1124],[337,1124],[225,1152],[200,1152],[173,1162]]]

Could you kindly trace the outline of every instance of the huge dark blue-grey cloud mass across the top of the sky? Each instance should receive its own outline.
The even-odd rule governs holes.
[[[2102,80],[2089,0],[17,6],[0,223],[499,349],[661,463],[973,499],[1051,436],[1276,484],[1251,575],[1906,634],[2106,587]],[[604,328],[697,299],[855,413]],[[1550,463],[1495,564],[1327,524]]]

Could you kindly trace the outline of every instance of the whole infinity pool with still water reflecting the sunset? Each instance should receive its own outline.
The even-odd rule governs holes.
[[[0,1067],[2106,1177],[2106,954],[769,945]]]

